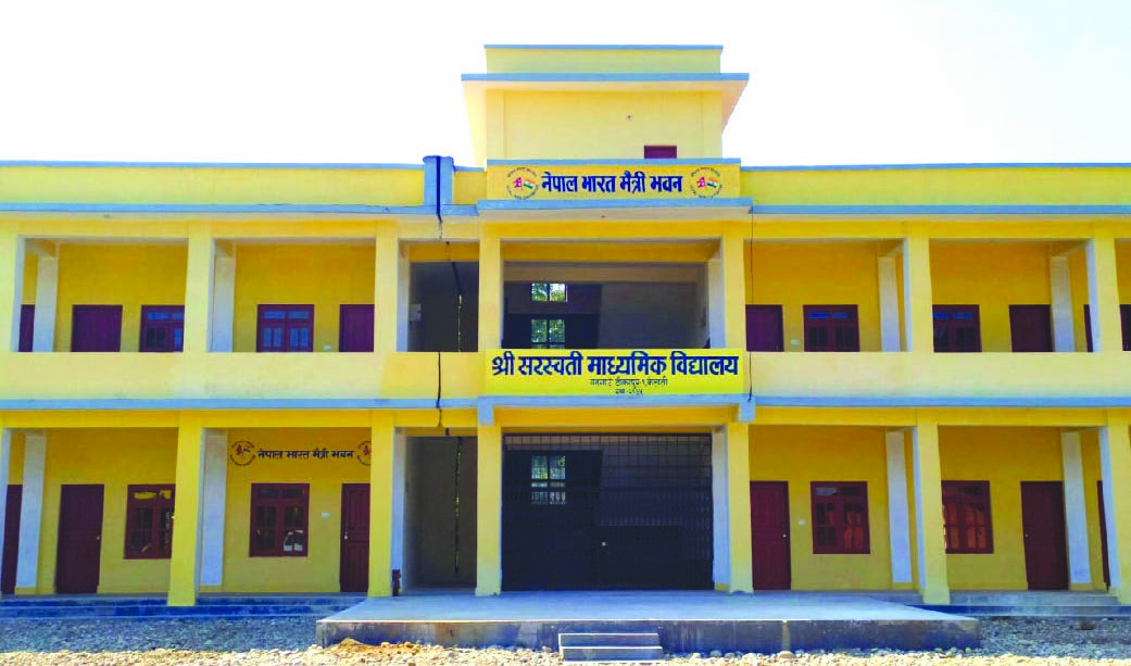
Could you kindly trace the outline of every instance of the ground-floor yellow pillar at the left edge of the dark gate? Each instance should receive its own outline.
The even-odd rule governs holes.
[[[489,597],[502,591],[502,429],[480,426],[476,460],[475,595]]]

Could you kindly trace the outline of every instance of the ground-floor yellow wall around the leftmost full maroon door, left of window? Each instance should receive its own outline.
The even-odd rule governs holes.
[[[102,561],[98,593],[164,593],[169,560],[126,560],[126,499],[130,484],[172,484],[176,431],[98,429],[48,431],[43,528],[37,591],[55,587],[59,498],[63,484],[103,484]]]

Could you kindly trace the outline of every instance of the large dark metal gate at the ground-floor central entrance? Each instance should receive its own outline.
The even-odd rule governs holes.
[[[503,443],[503,589],[711,588],[710,435]]]

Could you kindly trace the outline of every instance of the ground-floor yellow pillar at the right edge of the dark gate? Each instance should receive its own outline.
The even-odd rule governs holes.
[[[732,593],[754,591],[750,540],[750,424],[726,425],[726,494]]]

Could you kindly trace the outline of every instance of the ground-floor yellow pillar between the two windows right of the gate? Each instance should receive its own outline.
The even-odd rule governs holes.
[[[918,591],[924,604],[949,604],[947,544],[942,525],[942,473],[939,424],[920,420],[914,436],[915,533],[918,544]]]

